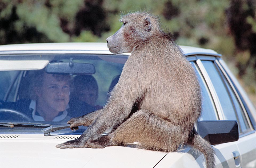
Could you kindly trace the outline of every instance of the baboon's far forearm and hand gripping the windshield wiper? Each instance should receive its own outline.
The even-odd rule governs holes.
[[[70,128],[75,128],[77,126],[89,126],[91,125],[94,120],[98,117],[99,113],[101,113],[102,110],[97,110],[94,112],[90,112],[88,114],[85,114],[81,117],[75,117],[75,118],[71,118],[67,124],[70,124]]]

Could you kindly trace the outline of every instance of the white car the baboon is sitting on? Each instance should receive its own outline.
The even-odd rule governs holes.
[[[256,167],[256,111],[246,93],[220,54],[180,47],[202,87],[202,115],[195,126],[212,144],[216,167]],[[39,114],[30,108],[34,74],[45,68],[50,74],[69,74],[74,83],[76,76],[95,79],[94,88],[70,84],[66,116],[78,117],[106,104],[128,56],[112,54],[106,43],[0,46],[0,167],[205,167],[203,155],[189,146],[173,153],[137,149],[132,144],[103,149],[55,147],[78,138],[87,127],[72,131],[63,118],[37,118]],[[87,92],[78,92],[77,87]]]

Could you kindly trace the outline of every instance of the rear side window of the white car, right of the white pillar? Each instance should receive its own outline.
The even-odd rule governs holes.
[[[239,101],[235,97],[229,83],[224,75],[218,69],[213,61],[202,60],[214,89],[217,93],[218,99],[223,109],[225,120],[237,120],[239,125],[239,132],[248,130],[249,126],[243,115],[243,111]],[[239,120],[238,120],[239,117]]]

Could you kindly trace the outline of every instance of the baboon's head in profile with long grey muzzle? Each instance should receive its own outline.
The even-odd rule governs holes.
[[[114,54],[132,52],[133,48],[159,31],[158,18],[136,12],[127,14],[120,19],[121,28],[107,38],[107,47]]]

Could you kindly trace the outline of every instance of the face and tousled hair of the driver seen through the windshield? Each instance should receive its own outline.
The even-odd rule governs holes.
[[[68,80],[58,81],[52,74],[43,75],[42,87],[38,91],[38,98],[46,108],[58,112],[64,111],[69,103],[70,85]]]

